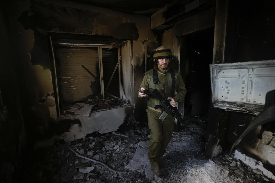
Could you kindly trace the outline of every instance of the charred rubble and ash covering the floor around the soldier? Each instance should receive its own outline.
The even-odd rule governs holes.
[[[93,134],[93,136],[64,143],[36,152],[33,164],[24,173],[25,182],[95,182],[95,183],[246,183],[272,182],[260,171],[251,170],[227,152],[209,160],[203,156],[205,132],[199,125],[203,121],[191,122],[181,132],[173,132],[163,161],[166,170],[161,176],[150,171],[148,152],[148,129],[115,132],[115,134]],[[123,135],[120,136],[119,134]],[[127,137],[130,136],[130,137]],[[94,163],[76,156],[78,154],[109,165]],[[125,172],[125,173],[124,173]],[[254,173],[256,172],[256,173]],[[24,182],[22,180],[22,182]]]

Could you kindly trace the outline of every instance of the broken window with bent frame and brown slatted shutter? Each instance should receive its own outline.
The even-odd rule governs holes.
[[[119,98],[119,49],[51,40],[59,108],[88,99]]]

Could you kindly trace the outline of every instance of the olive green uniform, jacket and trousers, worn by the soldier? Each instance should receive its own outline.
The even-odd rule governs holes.
[[[161,73],[158,70],[158,66],[155,64],[154,68],[157,70],[158,73],[158,84],[154,84],[153,82],[153,69],[147,71],[144,74],[144,78],[142,83],[140,84],[140,88],[144,87],[147,93],[152,92],[153,89],[157,89],[160,95],[167,99],[168,97],[173,97],[176,102],[182,102],[184,96],[186,94],[185,85],[183,83],[182,77],[180,72],[174,71],[175,73],[175,89],[174,91],[177,94],[172,94],[172,77],[170,69],[168,69]],[[165,83],[165,92],[163,92],[162,87]],[[140,97],[140,96],[139,96]],[[150,129],[150,141],[149,141],[149,152],[148,157],[151,161],[157,161],[158,158],[161,158],[165,153],[165,148],[167,144],[170,142],[172,137],[172,132],[174,129],[173,124],[173,116],[168,115],[163,121],[159,119],[160,115],[163,112],[163,108],[154,109],[155,105],[160,105],[160,100],[149,97],[148,98],[148,109],[146,109],[148,115],[148,126]]]

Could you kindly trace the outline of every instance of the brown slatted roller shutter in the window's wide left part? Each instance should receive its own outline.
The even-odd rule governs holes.
[[[54,48],[61,105],[71,104],[100,93],[98,47]],[[86,71],[84,65],[97,80]]]

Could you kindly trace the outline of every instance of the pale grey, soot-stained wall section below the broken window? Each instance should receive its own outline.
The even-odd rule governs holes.
[[[87,134],[91,134],[93,132],[114,132],[121,124],[123,124],[124,119],[127,116],[126,111],[129,109],[132,111],[133,107],[115,108],[106,111],[92,112],[90,117],[81,115],[59,117],[58,120],[62,123],[55,128],[58,128],[59,130],[66,130],[65,127],[62,128],[61,126],[66,123],[67,126],[70,126],[69,130],[62,132],[62,134],[56,134],[50,139],[39,142],[37,146],[51,146],[56,140],[62,139],[64,139],[65,142],[69,142],[75,139],[85,138]],[[78,121],[80,121],[80,124],[78,124]],[[58,122],[54,123],[57,123],[56,125],[58,125]]]

